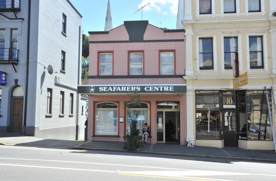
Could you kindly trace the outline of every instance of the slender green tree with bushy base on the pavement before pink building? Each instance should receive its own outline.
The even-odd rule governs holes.
[[[128,93],[130,101],[124,101],[124,107],[127,110],[127,121],[130,119],[130,132],[127,130],[127,135],[124,137],[126,150],[137,150],[144,146],[143,142],[139,139],[139,129],[137,128],[137,118],[139,116],[139,111],[132,110],[136,106],[141,106],[141,96],[135,89]]]

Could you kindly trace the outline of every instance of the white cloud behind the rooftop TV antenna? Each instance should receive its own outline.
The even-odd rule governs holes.
[[[138,8],[145,6],[147,3],[150,4],[143,9],[144,11],[157,10],[158,13],[163,12],[164,15],[167,15],[167,9],[169,9],[172,15],[177,15],[178,0],[143,0]]]

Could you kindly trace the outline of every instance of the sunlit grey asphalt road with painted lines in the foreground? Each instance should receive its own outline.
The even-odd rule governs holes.
[[[0,145],[0,180],[276,180],[276,164]]]

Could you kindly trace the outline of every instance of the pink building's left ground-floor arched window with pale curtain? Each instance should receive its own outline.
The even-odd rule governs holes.
[[[96,135],[118,135],[118,104],[96,104],[95,127]]]

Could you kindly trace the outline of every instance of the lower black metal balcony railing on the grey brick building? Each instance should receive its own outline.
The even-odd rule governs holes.
[[[0,64],[18,64],[19,50],[15,48],[0,48]]]

